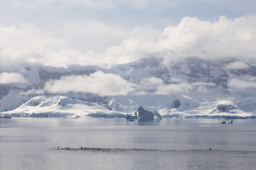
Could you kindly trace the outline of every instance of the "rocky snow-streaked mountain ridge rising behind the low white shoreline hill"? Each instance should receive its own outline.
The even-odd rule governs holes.
[[[246,67],[228,68],[228,65],[233,63],[243,64]],[[208,110],[212,109],[213,103],[216,104],[221,100],[233,102],[240,107],[243,110],[241,115],[244,112],[254,115],[256,111],[253,104],[256,101],[254,97],[256,91],[253,86],[256,81],[256,67],[232,58],[209,61],[189,57],[169,63],[162,58],[149,57],[114,67],[75,65],[64,68],[13,65],[1,70],[1,72],[13,71],[23,75],[27,82],[0,84],[0,112],[14,110],[38,95],[61,95],[74,100],[102,104],[114,98],[120,102],[123,111],[129,113],[143,106],[148,110],[157,110],[161,115],[187,112],[186,115],[189,116],[195,115],[193,112],[196,110],[200,110],[198,115],[202,115],[203,112],[210,114]],[[116,75],[119,79],[131,83],[132,91],[128,95],[99,95],[92,92],[72,91],[56,94],[44,89],[46,83],[54,83],[55,80],[61,80],[63,77],[71,75],[91,77],[96,76],[94,73],[99,71],[103,76]],[[232,84],[232,80],[239,82]],[[212,98],[210,100],[212,104],[207,104],[209,97]],[[179,108],[173,107],[173,101],[176,99],[181,101]]]

